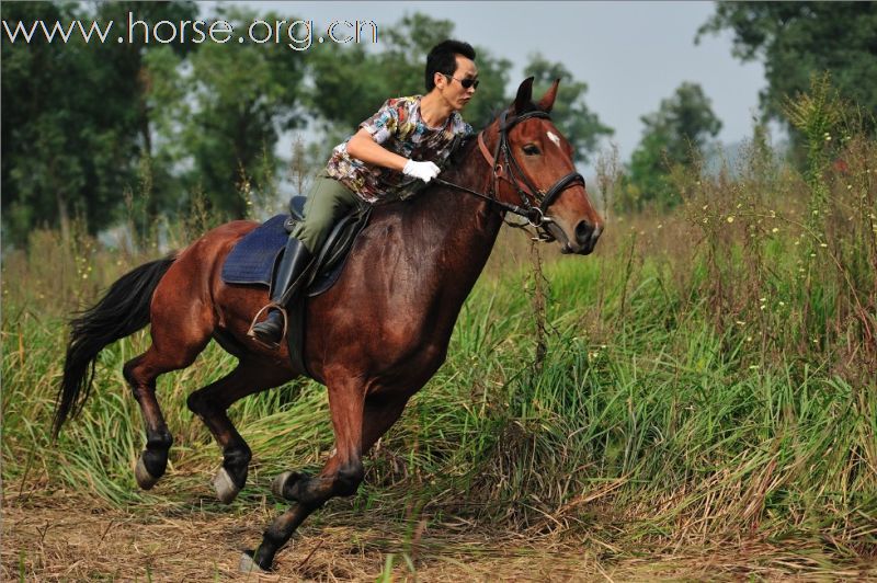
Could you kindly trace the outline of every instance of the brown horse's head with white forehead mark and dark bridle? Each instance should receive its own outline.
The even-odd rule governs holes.
[[[479,146],[493,165],[493,196],[506,204],[523,203],[531,221],[548,240],[556,239],[562,253],[586,255],[603,232],[603,218],[576,171],[572,147],[551,122],[558,84],[555,81],[534,103],[533,78],[526,79]]]

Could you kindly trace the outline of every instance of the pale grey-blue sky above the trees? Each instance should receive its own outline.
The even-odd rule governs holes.
[[[722,122],[718,138],[725,144],[751,136],[758,94],[765,85],[760,62],[741,64],[731,56],[730,33],[706,35],[695,45],[697,28],[714,12],[713,2],[236,3],[260,14],[274,11],[312,20],[315,30],[332,21],[371,20],[378,25],[378,45],[383,31],[405,14],[451,20],[457,38],[514,64],[509,94],[523,81],[527,57],[540,53],[588,83],[585,103],[615,129],[611,139],[625,162],[641,138],[640,116],[657,111],[682,82],[699,83],[711,100]],[[205,2],[202,13],[209,14],[212,4]]]

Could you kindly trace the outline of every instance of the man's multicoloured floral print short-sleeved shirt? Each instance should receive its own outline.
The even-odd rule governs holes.
[[[384,148],[418,162],[443,168],[459,140],[472,127],[453,112],[442,127],[430,127],[420,116],[421,95],[387,100],[378,112],[360,124]],[[383,168],[348,153],[348,142],[332,150],[326,172],[367,203],[405,199],[425,184],[420,179]]]

